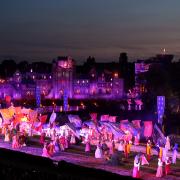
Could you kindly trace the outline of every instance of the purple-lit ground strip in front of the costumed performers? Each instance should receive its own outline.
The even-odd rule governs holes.
[[[127,160],[124,164],[119,165],[119,166],[112,166],[112,165],[107,164],[107,162],[103,159],[95,159],[94,152],[92,152],[90,155],[87,155],[82,149],[82,146],[77,146],[77,147],[80,148],[80,150],[78,150],[75,146],[74,147],[72,146],[68,151],[60,152],[59,154],[54,155],[54,157],[50,159],[53,161],[54,164],[58,164],[65,161],[67,163],[71,163],[71,164],[82,166],[82,167],[93,168],[96,170],[103,170],[106,172],[111,172],[114,174],[131,177],[135,153],[133,153],[131,155],[132,157],[130,157],[130,159]],[[0,149],[9,149],[11,151],[23,152],[25,154],[30,154],[34,156],[40,156],[40,157],[42,154],[42,147],[26,146],[20,149],[12,149],[11,143],[5,143],[3,142],[2,139],[0,139]],[[155,159],[156,157],[153,157],[153,158],[154,160],[152,162],[152,167],[141,166],[142,179],[147,179],[147,180],[157,179],[155,177],[157,162]],[[35,161],[34,161],[34,164],[36,164]],[[168,175],[161,179],[168,179],[168,177],[171,179],[179,179],[180,166],[178,165],[173,166],[173,170],[174,170],[174,173],[172,175]]]

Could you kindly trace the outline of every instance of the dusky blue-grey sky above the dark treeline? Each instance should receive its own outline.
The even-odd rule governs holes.
[[[180,58],[180,0],[2,0],[0,60]]]

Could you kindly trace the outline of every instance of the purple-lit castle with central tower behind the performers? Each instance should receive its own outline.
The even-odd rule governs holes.
[[[0,97],[33,99],[37,87],[44,99],[63,99],[65,94],[70,99],[119,99],[124,95],[124,81],[118,72],[107,77],[105,73],[97,75],[92,71],[89,76],[77,77],[75,61],[67,56],[53,60],[51,72],[37,73],[30,69],[21,74],[17,71],[12,78],[1,80]]]

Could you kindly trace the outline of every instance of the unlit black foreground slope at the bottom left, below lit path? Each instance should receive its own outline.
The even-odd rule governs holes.
[[[82,167],[65,161],[0,149],[0,179],[133,179],[103,170]]]

